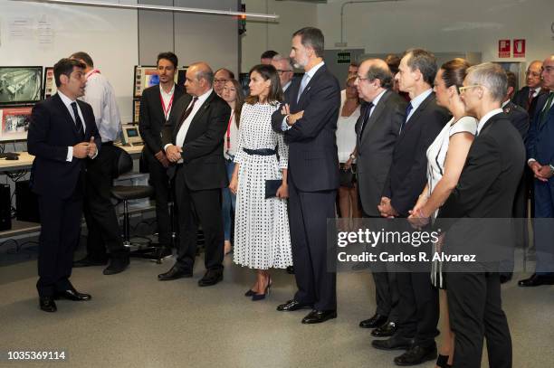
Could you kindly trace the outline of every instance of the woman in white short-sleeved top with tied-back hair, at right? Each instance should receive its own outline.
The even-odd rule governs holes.
[[[427,148],[427,184],[408,217],[408,221],[415,227],[422,227],[430,221],[435,221],[439,208],[458,184],[467,153],[472,146],[477,131],[477,119],[468,116],[460,99],[459,90],[469,67],[470,64],[467,61],[454,59],[445,62],[436,73],[436,101],[448,109],[453,118]],[[441,251],[440,241],[435,244],[434,251]],[[431,281],[436,288],[441,289],[439,301],[441,320],[444,325],[441,329],[443,342],[436,366],[450,367],[454,359],[454,334],[448,318],[442,264],[438,261],[433,263]]]

